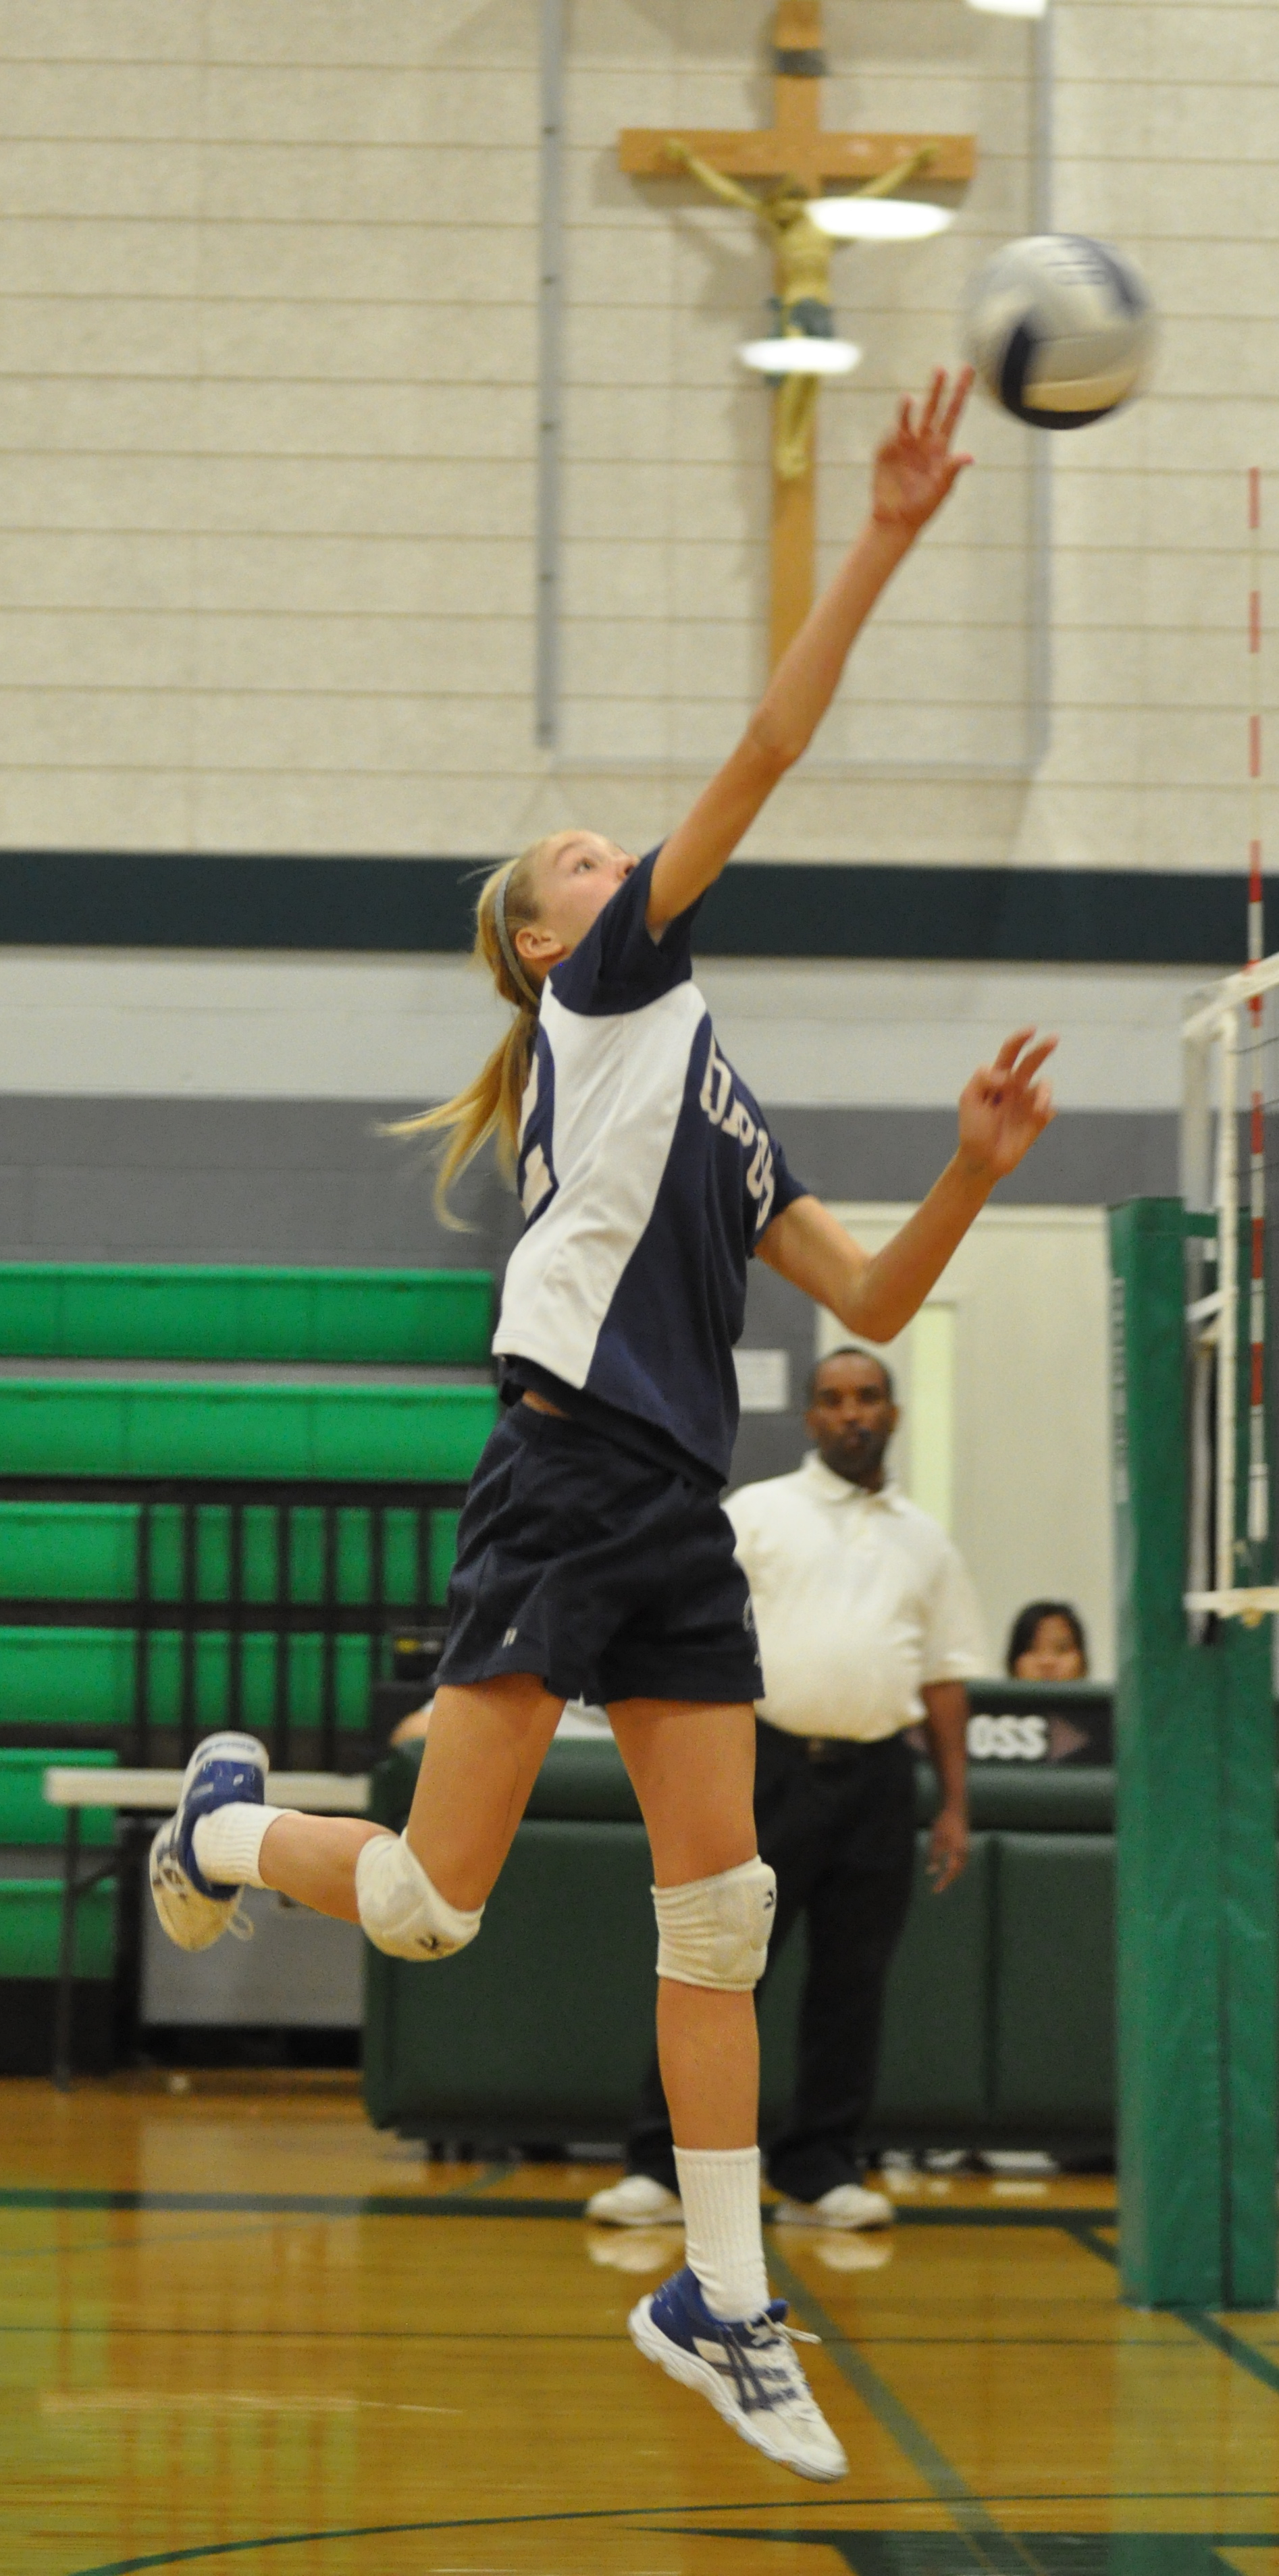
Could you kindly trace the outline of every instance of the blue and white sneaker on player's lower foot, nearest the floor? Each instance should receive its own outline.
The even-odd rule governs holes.
[[[784,2298],[774,2298],[761,2316],[725,2324],[707,2308],[694,2272],[683,2269],[632,2308],[629,2331],[647,2362],[699,2388],[766,2460],[794,2468],[799,2478],[848,2476],[848,2460],[794,2354],[797,2342],[817,2344],[820,2336],[786,2326]]]

